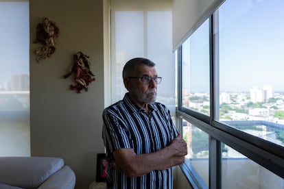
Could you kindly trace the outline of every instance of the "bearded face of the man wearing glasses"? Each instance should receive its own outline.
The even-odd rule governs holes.
[[[156,77],[156,69],[149,66],[135,66],[132,77]],[[143,106],[148,103],[154,103],[156,101],[157,84],[152,79],[149,84],[143,84],[141,79],[127,78],[127,88],[130,92],[130,97],[134,103],[139,106]]]

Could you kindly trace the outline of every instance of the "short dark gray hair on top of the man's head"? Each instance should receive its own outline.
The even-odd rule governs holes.
[[[128,62],[126,62],[123,67],[122,78],[130,76],[134,71],[134,67],[137,65],[154,67],[156,64],[147,58],[133,58],[131,60],[128,60]]]

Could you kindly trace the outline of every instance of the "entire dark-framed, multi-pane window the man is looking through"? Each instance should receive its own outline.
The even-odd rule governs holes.
[[[198,188],[284,186],[283,9],[280,0],[226,0],[175,52],[189,145],[181,167]]]

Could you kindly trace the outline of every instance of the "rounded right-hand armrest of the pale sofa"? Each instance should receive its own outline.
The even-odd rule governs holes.
[[[70,166],[65,165],[51,175],[38,189],[73,189],[75,182],[75,173]]]

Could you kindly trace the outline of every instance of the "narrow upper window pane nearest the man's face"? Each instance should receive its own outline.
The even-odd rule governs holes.
[[[210,115],[209,21],[182,44],[182,107]]]

